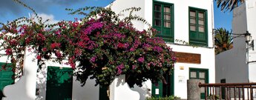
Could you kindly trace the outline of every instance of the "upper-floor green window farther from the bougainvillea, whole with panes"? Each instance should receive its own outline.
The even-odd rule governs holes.
[[[207,46],[207,11],[189,7],[189,42]]]

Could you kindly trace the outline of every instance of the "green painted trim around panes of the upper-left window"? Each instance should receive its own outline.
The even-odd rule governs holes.
[[[161,5],[161,17],[164,18],[164,14],[163,14],[163,5],[168,5],[171,7],[171,27],[169,28],[171,30],[171,36],[161,36],[161,35],[157,35],[158,37],[163,38],[164,41],[168,41],[168,42],[174,42],[174,4],[168,3],[168,2],[164,2],[164,1],[157,1],[157,0],[153,0],[153,4],[152,4],[152,26],[154,28],[157,29],[158,26],[154,26],[154,4],[160,4]],[[161,30],[163,30],[164,27],[164,22],[163,19],[161,19]]]

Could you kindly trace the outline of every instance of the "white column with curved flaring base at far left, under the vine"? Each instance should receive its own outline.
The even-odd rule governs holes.
[[[3,100],[35,100],[37,59],[34,50],[26,50],[24,56],[24,75],[16,83],[4,87]]]

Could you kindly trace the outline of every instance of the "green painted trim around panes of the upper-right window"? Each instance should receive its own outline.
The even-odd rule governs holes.
[[[205,27],[205,34],[206,34],[206,40],[205,41],[201,41],[201,40],[199,40],[199,39],[194,39],[194,40],[192,40],[191,39],[191,33],[193,33],[193,32],[191,32],[190,31],[190,10],[196,10],[197,12],[196,12],[196,32],[195,33],[197,33],[197,34],[199,34],[200,32],[198,32],[198,27],[197,27],[197,25],[198,25],[198,11],[202,11],[202,12],[204,12],[205,13],[205,15],[206,15],[206,17],[205,17],[205,24],[206,24],[206,27]],[[189,36],[189,44],[195,44],[195,45],[198,45],[198,46],[202,46],[202,47],[204,47],[204,46],[206,46],[206,47],[208,47],[208,13],[207,13],[207,10],[204,10],[204,9],[201,9],[201,8],[197,8],[197,7],[188,7],[188,36]]]

